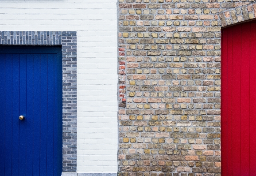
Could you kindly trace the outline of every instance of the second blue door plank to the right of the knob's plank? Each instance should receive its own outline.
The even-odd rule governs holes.
[[[34,54],[33,66],[33,175],[39,176],[40,172],[40,54]]]

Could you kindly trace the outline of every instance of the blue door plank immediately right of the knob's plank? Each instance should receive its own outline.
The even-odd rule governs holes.
[[[33,54],[27,54],[26,176],[33,174]]]

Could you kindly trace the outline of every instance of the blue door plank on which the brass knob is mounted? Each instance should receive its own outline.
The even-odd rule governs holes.
[[[19,120],[19,176],[26,175],[26,135],[27,135],[27,90],[26,90],[26,54],[19,54],[19,115],[25,116]]]

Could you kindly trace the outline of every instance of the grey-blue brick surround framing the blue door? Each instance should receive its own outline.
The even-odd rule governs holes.
[[[0,45],[62,48],[62,172],[77,170],[77,32],[0,31]]]

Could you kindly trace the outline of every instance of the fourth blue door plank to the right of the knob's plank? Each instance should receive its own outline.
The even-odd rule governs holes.
[[[54,54],[47,54],[47,175],[54,167]]]

